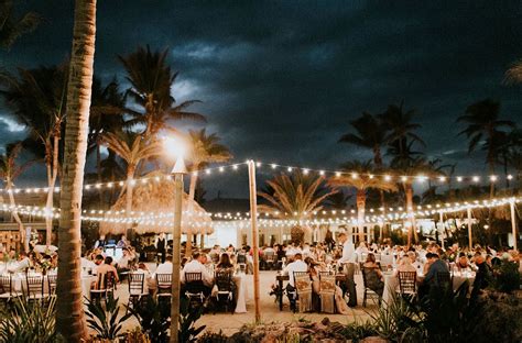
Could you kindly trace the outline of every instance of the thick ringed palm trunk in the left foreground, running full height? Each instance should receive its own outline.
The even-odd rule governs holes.
[[[67,123],[59,204],[56,331],[64,342],[87,335],[81,295],[81,193],[94,74],[96,0],[76,0],[67,86]]]

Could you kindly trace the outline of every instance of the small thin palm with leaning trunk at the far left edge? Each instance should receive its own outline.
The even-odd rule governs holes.
[[[9,203],[12,207],[15,206],[14,196],[12,191],[13,186],[14,186],[13,182],[32,164],[32,162],[26,162],[22,165],[17,164],[17,159],[19,157],[21,150],[22,150],[22,142],[11,143],[6,146],[6,153],[0,155],[0,178],[3,180],[6,185],[4,188],[9,196]],[[20,231],[20,236],[22,237],[22,242],[24,242],[25,246],[29,247],[25,242],[25,231],[23,229],[23,223],[20,219],[20,215],[18,214],[17,211],[13,211],[12,215],[14,218],[14,221],[19,225],[19,231]]]

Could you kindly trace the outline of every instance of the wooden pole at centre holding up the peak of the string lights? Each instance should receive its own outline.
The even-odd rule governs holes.
[[[261,322],[261,308],[259,303],[259,232],[258,232],[258,193],[255,191],[255,163],[249,161],[248,177],[250,188],[250,221],[252,225],[253,247],[253,302],[255,307],[255,322]]]

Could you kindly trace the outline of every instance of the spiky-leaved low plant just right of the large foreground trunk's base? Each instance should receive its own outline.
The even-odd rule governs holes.
[[[118,298],[109,294],[106,301],[106,309],[101,306],[101,301],[93,301],[87,299],[87,324],[96,331],[96,338],[116,340],[124,336],[121,333],[122,324],[126,320],[131,317],[131,313],[127,313],[118,319],[118,312],[120,307],[118,305]]]

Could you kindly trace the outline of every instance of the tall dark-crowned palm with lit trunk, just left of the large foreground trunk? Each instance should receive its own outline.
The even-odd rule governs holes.
[[[67,65],[19,68],[19,78],[2,77],[0,95],[13,110],[15,119],[29,130],[29,144],[43,155],[47,170],[46,207],[53,208],[54,187],[58,177],[59,144],[66,117]],[[45,219],[46,244],[51,244],[53,219]]]

